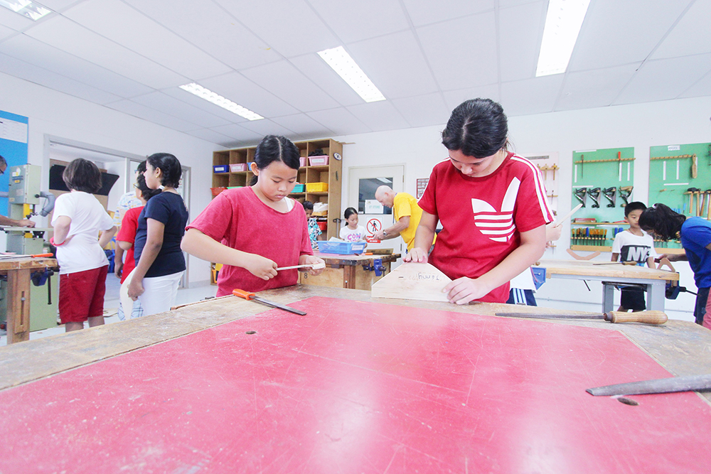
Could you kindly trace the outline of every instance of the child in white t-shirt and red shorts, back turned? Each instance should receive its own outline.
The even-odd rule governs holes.
[[[57,198],[51,242],[57,247],[59,263],[59,318],[70,332],[83,329],[84,321],[89,321],[90,327],[104,323],[109,261],[103,248],[114,237],[116,227],[92,195],[102,184],[94,163],[77,158],[65,168],[62,178],[71,192]]]

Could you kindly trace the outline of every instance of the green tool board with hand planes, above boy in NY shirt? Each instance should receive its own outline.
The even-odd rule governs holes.
[[[634,189],[634,148],[573,152],[572,205],[582,203],[571,227],[570,249],[611,252],[624,230],[624,207]]]

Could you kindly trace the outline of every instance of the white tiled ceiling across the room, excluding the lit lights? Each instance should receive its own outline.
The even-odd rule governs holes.
[[[591,0],[565,74],[535,77],[547,0],[40,0],[0,8],[0,72],[223,146],[711,95],[711,0]],[[363,102],[316,54],[338,45]],[[198,82],[249,122],[178,86]]]

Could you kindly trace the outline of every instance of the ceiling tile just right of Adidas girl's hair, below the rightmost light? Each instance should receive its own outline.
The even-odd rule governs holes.
[[[558,97],[563,75],[504,82],[501,106],[509,117],[551,112]]]

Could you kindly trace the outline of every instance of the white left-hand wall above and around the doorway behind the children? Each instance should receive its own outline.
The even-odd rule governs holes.
[[[212,152],[220,146],[2,73],[0,90],[0,110],[29,118],[29,163],[48,166],[44,163],[45,135],[141,156],[173,153],[192,168],[191,218],[210,202]],[[190,285],[209,281],[208,262],[189,258]]]

